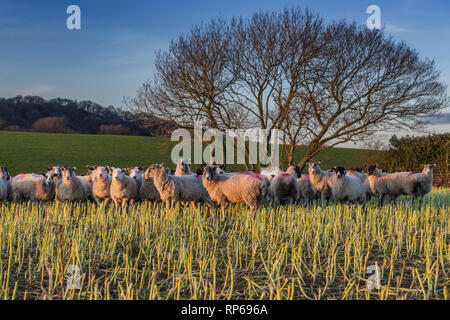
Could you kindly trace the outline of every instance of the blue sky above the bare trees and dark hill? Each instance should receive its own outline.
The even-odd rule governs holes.
[[[81,30],[66,28],[66,8],[81,8]],[[423,57],[435,59],[450,87],[450,1],[114,1],[2,0],[0,96],[35,94],[121,106],[153,77],[154,54],[192,25],[211,17],[249,16],[300,5],[326,20],[364,24],[366,8]],[[446,110],[449,112],[449,109]]]

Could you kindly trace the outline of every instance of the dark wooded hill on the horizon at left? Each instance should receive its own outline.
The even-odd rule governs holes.
[[[149,115],[103,107],[92,101],[46,100],[38,96],[0,98],[0,130],[167,136],[174,127],[174,123]]]

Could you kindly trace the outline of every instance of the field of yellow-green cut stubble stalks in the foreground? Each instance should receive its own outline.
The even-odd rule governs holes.
[[[449,197],[365,213],[237,206],[225,222],[154,204],[3,203],[0,299],[449,299]]]

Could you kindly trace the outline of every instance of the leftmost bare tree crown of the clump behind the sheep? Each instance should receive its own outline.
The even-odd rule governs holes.
[[[192,128],[195,121],[222,130],[242,124],[246,113],[224,99],[235,81],[228,67],[227,30],[217,19],[172,41],[167,52],[157,53],[154,81],[144,83],[128,106],[184,128]]]

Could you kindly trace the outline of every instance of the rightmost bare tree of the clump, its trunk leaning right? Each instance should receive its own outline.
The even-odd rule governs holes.
[[[378,131],[417,129],[421,116],[445,107],[446,87],[434,62],[421,60],[405,43],[345,21],[329,25],[321,41],[324,50],[302,75],[303,103],[312,117],[300,167],[344,142],[364,141]]]

